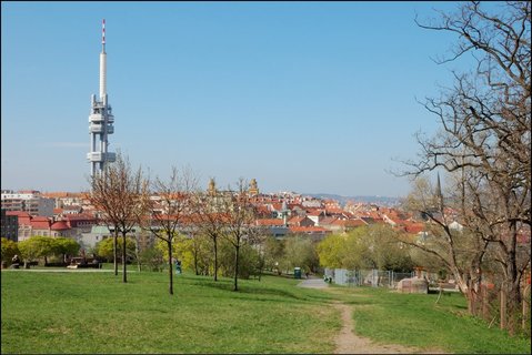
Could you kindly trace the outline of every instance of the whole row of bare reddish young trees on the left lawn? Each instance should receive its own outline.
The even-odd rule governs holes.
[[[219,275],[219,248],[231,245],[234,291],[238,291],[241,274],[242,248],[260,244],[265,236],[264,230],[254,225],[255,207],[251,204],[243,179],[239,180],[234,190],[228,187],[227,191],[205,193],[198,189],[197,179],[190,169],[172,168],[169,180],[150,180],[140,168],[133,171],[129,160],[119,154],[116,163],[106,166],[102,174],[91,179],[91,187],[89,195],[99,211],[99,220],[113,231],[114,274],[118,275],[118,252],[121,251],[123,261],[128,260],[128,248],[119,248],[119,235],[121,244],[127,245],[128,234],[140,226],[150,237],[165,246],[170,294],[173,294],[172,265],[178,257],[173,251],[181,247],[175,245],[178,241],[184,243],[179,240],[180,235],[187,235],[191,246],[195,247],[193,253],[198,256],[197,265],[200,265],[201,256],[198,236],[211,241],[214,281],[218,281]],[[135,245],[140,245],[140,242],[137,241]],[[153,244],[153,241],[149,244]],[[140,261],[140,257],[137,258]],[[122,263],[124,283],[127,264]]]

